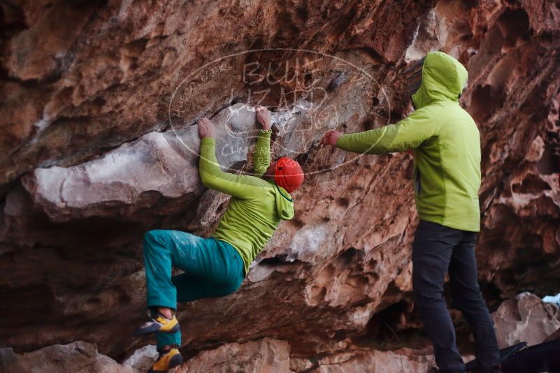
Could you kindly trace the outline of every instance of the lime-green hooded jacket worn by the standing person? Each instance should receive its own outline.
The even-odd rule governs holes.
[[[343,135],[336,146],[367,154],[413,149],[419,219],[478,232],[480,133],[458,102],[467,75],[457,59],[429,53],[422,85],[412,95],[416,110],[396,124]]]

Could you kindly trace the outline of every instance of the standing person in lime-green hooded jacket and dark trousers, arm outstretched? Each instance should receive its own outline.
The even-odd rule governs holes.
[[[477,278],[480,134],[459,105],[468,74],[457,59],[443,52],[430,52],[416,67],[405,75],[415,108],[408,117],[361,133],[327,131],[322,144],[365,154],[412,149],[419,215],[412,244],[412,287],[436,364],[440,372],[464,372],[443,297],[449,272],[454,305],[475,338],[480,372],[500,372],[494,324]]]

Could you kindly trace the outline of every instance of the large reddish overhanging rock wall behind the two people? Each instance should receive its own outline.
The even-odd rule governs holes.
[[[215,117],[223,129],[229,108],[260,102],[278,112],[273,156],[296,157],[306,184],[294,193],[296,216],[238,293],[180,305],[185,353],[227,344],[250,353],[280,340],[294,369],[310,369],[317,355],[326,359],[317,370],[399,363],[396,352],[345,350],[353,339],[383,342],[386,324],[399,334],[419,328],[410,304],[412,158],[356,156],[317,140],[328,128],[364,131],[406,115],[401,71],[433,49],[470,75],[461,105],[482,140],[484,295],[495,308],[520,291],[559,291],[553,1],[1,7],[2,346],[83,339],[116,357],[151,343],[129,335],[145,305],[142,234],[209,235],[228,200],[201,188],[196,156],[173,131],[196,148],[197,119]],[[254,126],[238,114],[243,131]],[[293,126],[283,126],[289,118]],[[242,149],[219,154],[222,166],[250,170],[247,136],[230,139]]]

